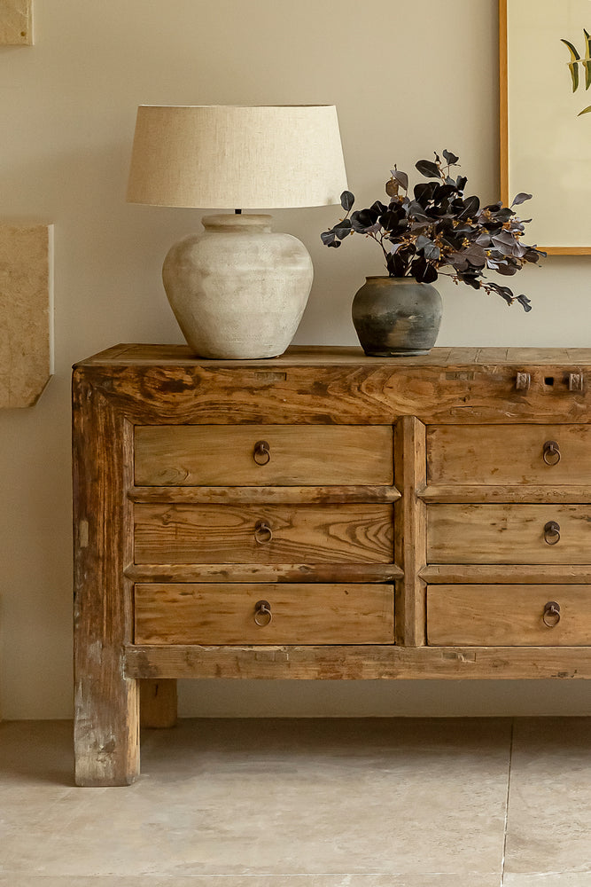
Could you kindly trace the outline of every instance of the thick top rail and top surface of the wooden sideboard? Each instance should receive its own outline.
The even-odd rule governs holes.
[[[401,415],[426,423],[586,422],[591,403],[588,386],[568,389],[569,373],[584,375],[589,349],[433,349],[395,365],[356,349],[295,349],[271,370],[261,361],[191,361],[181,346],[150,348],[128,346],[111,364],[84,362],[97,389],[125,404],[138,425],[226,425],[230,417],[236,425],[392,425]],[[138,357],[150,353],[169,357]],[[527,391],[516,389],[518,371],[531,374]]]

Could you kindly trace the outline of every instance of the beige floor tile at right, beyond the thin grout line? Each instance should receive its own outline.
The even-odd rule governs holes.
[[[591,718],[517,720],[505,871],[591,885]]]

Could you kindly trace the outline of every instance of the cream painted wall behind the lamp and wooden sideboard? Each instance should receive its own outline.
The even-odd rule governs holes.
[[[70,365],[117,341],[181,341],[160,264],[200,216],[124,202],[136,106],[335,103],[360,202],[381,196],[393,162],[411,171],[446,147],[474,192],[495,200],[496,34],[496,0],[35,0],[35,46],[0,47],[0,216],[56,224],[56,376],[34,409],[0,412],[4,718],[71,714]],[[362,239],[322,247],[337,216],[276,213],[315,262],[300,343],[356,343],[352,295],[381,273]],[[591,258],[569,257],[523,272],[529,315],[444,286],[439,344],[588,345],[590,271]],[[591,704],[576,682],[195,681],[181,710],[588,714]]]

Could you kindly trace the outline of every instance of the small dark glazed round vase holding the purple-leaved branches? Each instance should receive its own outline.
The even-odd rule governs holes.
[[[353,300],[353,323],[371,357],[426,354],[437,340],[443,303],[429,283],[369,277]]]

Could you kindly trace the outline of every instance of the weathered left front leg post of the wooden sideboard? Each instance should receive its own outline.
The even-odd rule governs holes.
[[[121,412],[74,373],[74,752],[77,785],[128,785],[139,773],[136,680],[124,671],[133,637],[125,498],[130,465]]]

